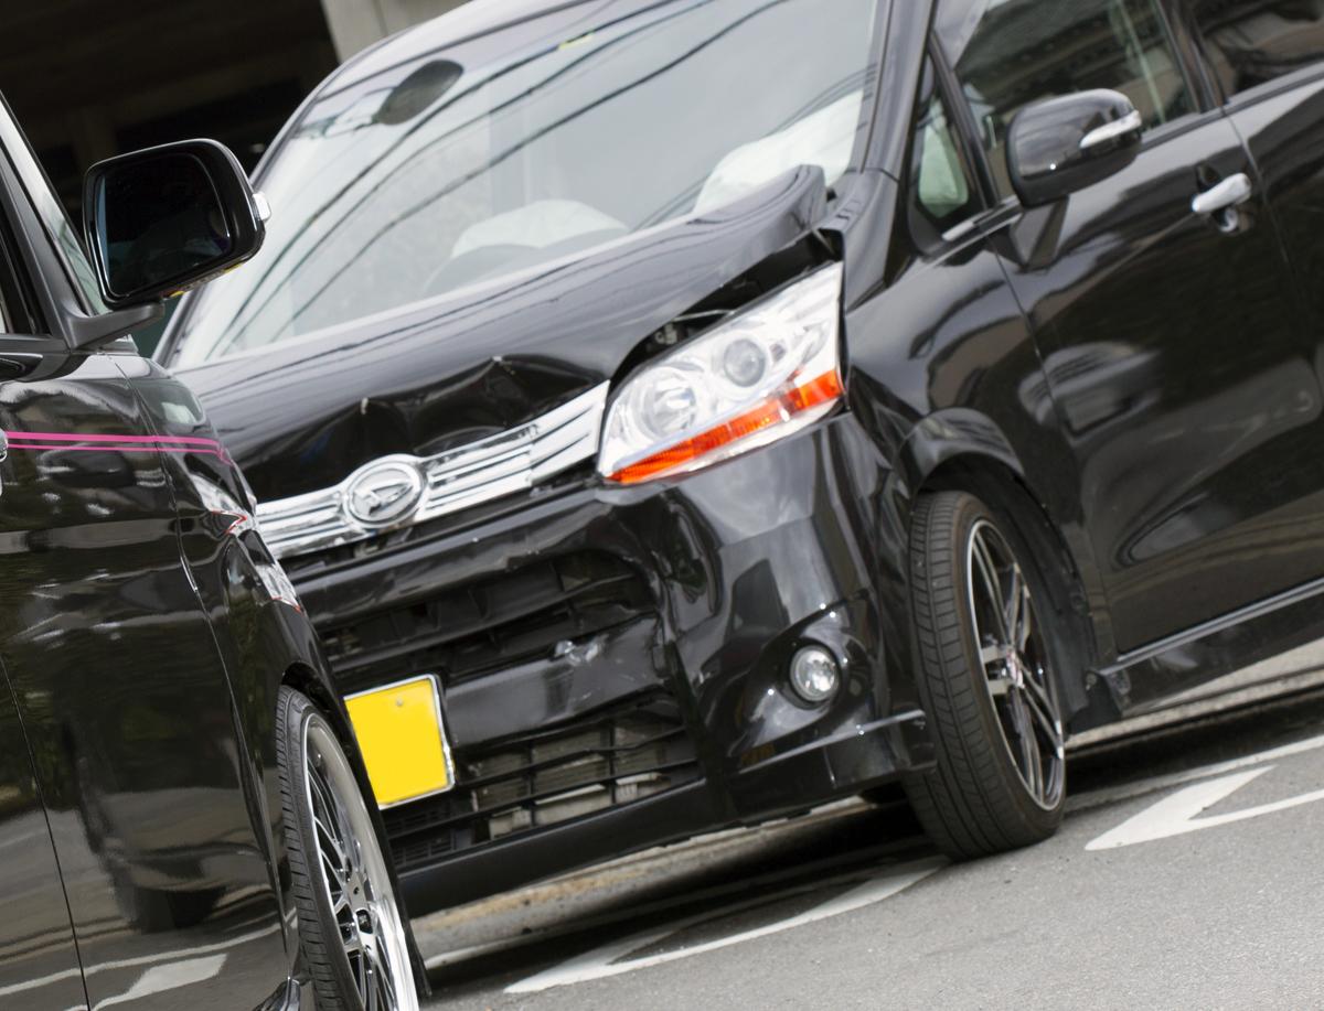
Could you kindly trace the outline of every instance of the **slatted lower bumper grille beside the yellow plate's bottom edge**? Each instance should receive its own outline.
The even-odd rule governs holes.
[[[383,811],[401,873],[699,778],[694,742],[663,693],[473,749],[457,770],[459,785],[450,793]]]

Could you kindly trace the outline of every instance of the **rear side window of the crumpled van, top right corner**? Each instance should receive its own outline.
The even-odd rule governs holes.
[[[1227,95],[1324,61],[1324,0],[1196,0],[1193,12]]]

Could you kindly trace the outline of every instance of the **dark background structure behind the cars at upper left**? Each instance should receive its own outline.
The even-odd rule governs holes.
[[[0,93],[77,212],[122,151],[212,136],[253,168],[336,64],[463,0],[0,0]]]

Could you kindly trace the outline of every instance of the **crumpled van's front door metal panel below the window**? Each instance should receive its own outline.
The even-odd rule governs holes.
[[[1206,116],[1074,195],[1050,262],[1008,250],[1123,650],[1324,574],[1320,378],[1274,224],[1262,196],[1231,233],[1190,209],[1238,172],[1258,188]]]

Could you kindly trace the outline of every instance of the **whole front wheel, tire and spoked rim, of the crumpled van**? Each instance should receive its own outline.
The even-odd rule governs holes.
[[[939,492],[916,504],[910,576],[916,681],[937,757],[903,782],[920,824],[959,860],[1047,839],[1062,823],[1066,761],[1031,553],[974,496]]]

